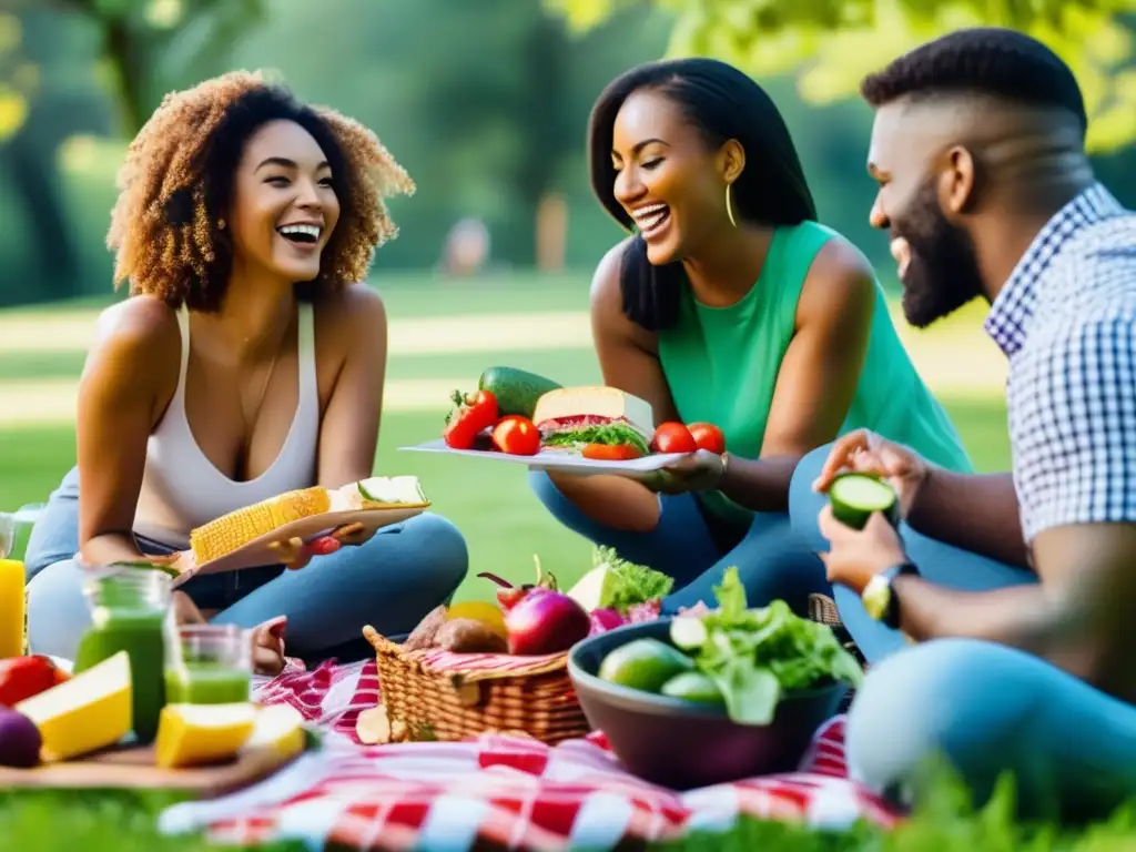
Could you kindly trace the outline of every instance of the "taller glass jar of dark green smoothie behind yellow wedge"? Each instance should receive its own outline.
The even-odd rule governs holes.
[[[174,617],[169,576],[145,568],[86,570],[83,594],[91,609],[91,627],[80,641],[75,673],[126,651],[134,736],[143,745],[152,743],[166,704],[165,635]]]

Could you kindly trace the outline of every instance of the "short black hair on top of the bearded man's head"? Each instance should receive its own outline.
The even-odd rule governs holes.
[[[1036,39],[1003,27],[958,30],[894,59],[860,83],[876,108],[900,98],[952,92],[1063,109],[1088,127],[1085,99],[1072,70]]]

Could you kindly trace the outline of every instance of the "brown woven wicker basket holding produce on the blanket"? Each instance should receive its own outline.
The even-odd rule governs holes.
[[[567,653],[533,658],[532,665],[502,657],[508,666],[501,668],[438,670],[424,659],[429,651],[406,651],[369,626],[364,636],[375,649],[381,701],[411,730],[443,741],[523,732],[550,745],[591,732]]]

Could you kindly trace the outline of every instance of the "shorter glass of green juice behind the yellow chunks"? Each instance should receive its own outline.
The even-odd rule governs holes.
[[[252,634],[235,625],[182,625],[166,649],[166,701],[231,704],[251,700]]]

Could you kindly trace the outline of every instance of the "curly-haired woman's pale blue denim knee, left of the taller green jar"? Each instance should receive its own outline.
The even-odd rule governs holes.
[[[74,660],[90,624],[83,569],[74,561],[49,565],[27,584],[27,641],[32,653]]]

